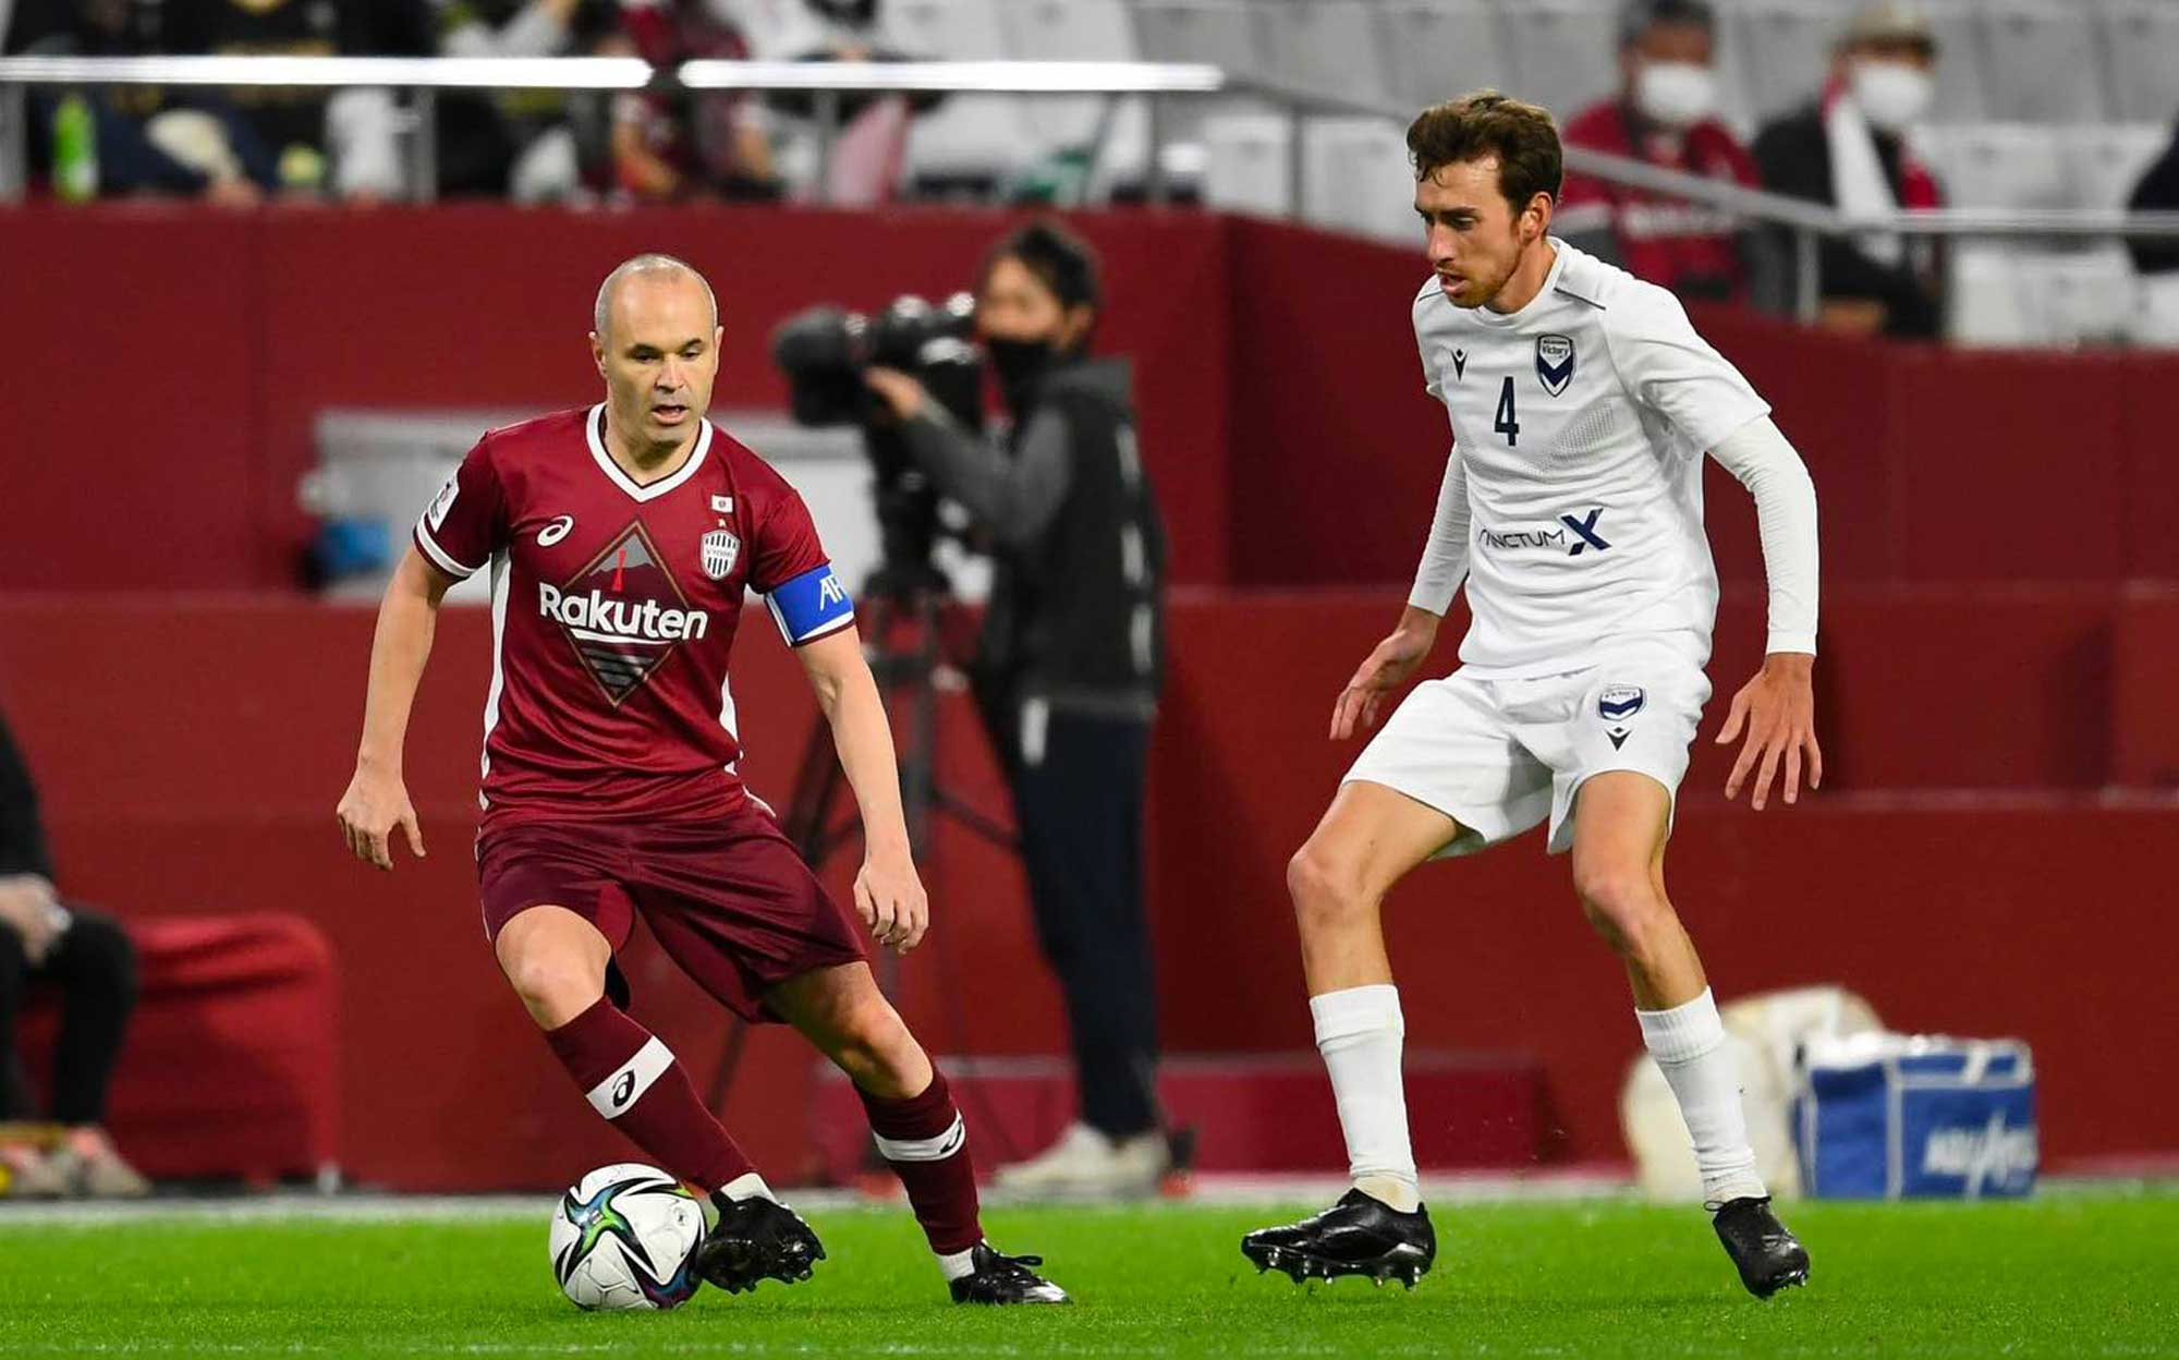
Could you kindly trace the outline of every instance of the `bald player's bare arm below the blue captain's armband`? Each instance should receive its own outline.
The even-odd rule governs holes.
[[[893,952],[909,952],[930,928],[915,859],[909,854],[909,822],[900,809],[900,767],[893,761],[893,730],[885,721],[885,700],[863,660],[854,628],[841,628],[795,649],[817,693],[817,706],[832,724],[839,765],[863,811],[863,867],[854,876],[854,909],[872,939]]]

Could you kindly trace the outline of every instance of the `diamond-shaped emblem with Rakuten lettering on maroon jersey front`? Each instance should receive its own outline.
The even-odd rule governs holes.
[[[538,582],[538,612],[560,623],[614,708],[678,643],[710,630],[710,615],[689,608],[643,521],[621,530],[567,586]]]

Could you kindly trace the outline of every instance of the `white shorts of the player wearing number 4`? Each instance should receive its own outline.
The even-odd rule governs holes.
[[[1667,645],[1534,680],[1453,671],[1414,687],[1342,782],[1384,785],[1460,824],[1432,859],[1473,854],[1551,819],[1549,852],[1573,848],[1573,798],[1634,769],[1678,798],[1711,680]]]

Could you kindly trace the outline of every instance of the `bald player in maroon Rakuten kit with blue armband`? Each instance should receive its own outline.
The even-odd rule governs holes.
[[[693,268],[638,255],[597,292],[606,399],[492,429],[416,523],[379,606],[340,833],[392,867],[421,857],[401,739],[447,591],[492,582],[477,881],[499,970],[604,1118],[717,1207],[697,1273],[728,1292],[808,1279],[824,1247],[774,1197],[612,966],[641,913],[743,1020],[782,1020],[854,1081],[957,1303],[1066,1303],[1037,1258],[983,1240],[946,1077],[878,992],[861,931],[913,950],[928,902],[848,591],[808,508],[704,418],[719,307]],[[832,726],[863,813],[854,913],[741,782],[728,654],[743,593],[765,597]],[[861,918],[861,928],[859,920]]]

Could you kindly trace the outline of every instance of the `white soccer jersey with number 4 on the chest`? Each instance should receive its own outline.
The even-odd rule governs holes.
[[[1551,244],[1519,312],[1456,307],[1436,277],[1414,299],[1453,453],[1410,602],[1442,615],[1466,573],[1460,660],[1477,680],[1571,671],[1639,639],[1700,667],[1717,617],[1702,456],[1769,405],[1676,296]],[[1813,652],[1813,593],[1809,608],[1795,649]]]

